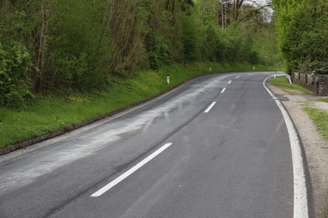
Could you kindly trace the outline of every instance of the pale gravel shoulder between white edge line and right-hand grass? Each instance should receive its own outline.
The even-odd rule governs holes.
[[[312,120],[303,111],[305,106],[328,111],[328,103],[317,101],[324,97],[299,92],[291,94],[271,84],[267,86],[288,110],[300,135],[312,183],[315,217],[328,218],[328,142],[323,140]]]

